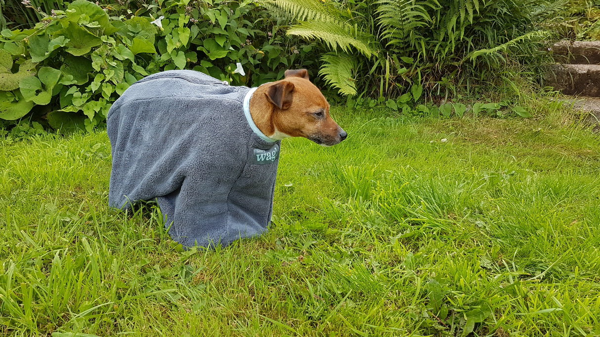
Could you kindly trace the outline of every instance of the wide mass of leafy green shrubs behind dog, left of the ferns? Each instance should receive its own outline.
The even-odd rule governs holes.
[[[76,0],[32,29],[4,29],[0,119],[92,130],[128,86],[154,72],[192,68],[257,85],[314,62],[307,57],[314,43],[296,45],[251,2],[160,0],[137,14],[109,17]],[[238,62],[245,75],[235,71]]]

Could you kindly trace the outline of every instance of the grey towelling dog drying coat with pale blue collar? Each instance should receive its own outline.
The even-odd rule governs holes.
[[[107,117],[110,207],[156,199],[169,234],[188,247],[265,232],[281,143],[248,119],[253,92],[188,70],[129,87]]]

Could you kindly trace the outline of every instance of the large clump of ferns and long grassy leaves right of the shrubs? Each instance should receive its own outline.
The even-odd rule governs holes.
[[[550,0],[268,0],[296,20],[287,34],[320,41],[320,73],[343,95],[399,96],[413,83],[431,95],[502,78],[519,53],[541,53],[538,23]],[[510,81],[509,77],[505,78]]]

